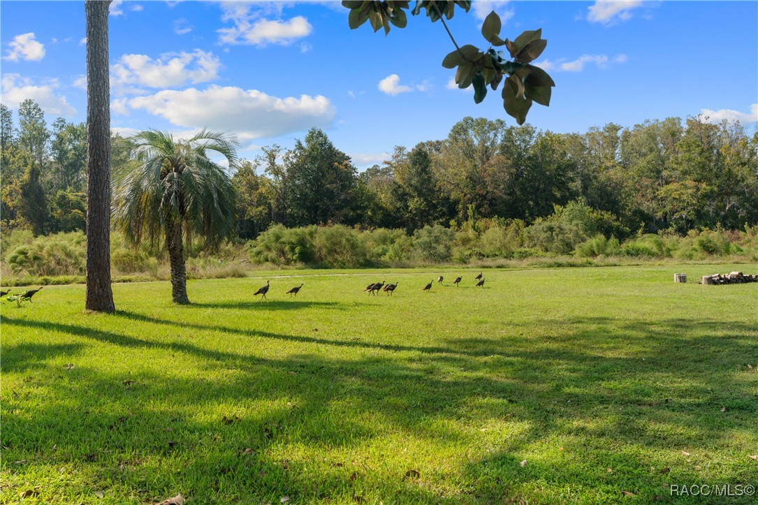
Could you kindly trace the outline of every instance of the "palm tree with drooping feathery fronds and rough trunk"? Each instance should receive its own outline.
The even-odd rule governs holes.
[[[189,303],[183,237],[205,237],[218,246],[235,225],[235,190],[224,168],[208,158],[215,151],[236,164],[236,140],[202,130],[189,140],[156,130],[127,139],[130,162],[114,182],[113,221],[127,242],[139,245],[164,237],[171,261],[174,303]]]

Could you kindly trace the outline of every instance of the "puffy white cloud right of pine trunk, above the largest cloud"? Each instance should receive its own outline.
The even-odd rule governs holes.
[[[158,59],[147,55],[123,55],[111,67],[113,86],[165,88],[218,79],[221,62],[211,52],[166,53]]]

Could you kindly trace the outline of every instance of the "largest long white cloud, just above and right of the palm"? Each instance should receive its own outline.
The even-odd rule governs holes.
[[[324,96],[280,99],[257,89],[215,85],[204,90],[164,90],[130,99],[128,104],[180,127],[234,131],[248,140],[330,127],[335,116],[334,105]]]

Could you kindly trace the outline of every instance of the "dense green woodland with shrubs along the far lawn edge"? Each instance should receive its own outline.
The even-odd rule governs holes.
[[[19,242],[9,241],[13,231],[24,231],[16,235],[28,246],[38,240],[33,237],[81,231],[85,224],[86,125],[63,118],[48,125],[31,100],[15,116],[2,105],[5,261]],[[114,170],[127,162],[123,146],[114,136]],[[463,118],[446,139],[396,146],[387,161],[360,172],[318,129],[293,149],[263,151],[240,162],[233,175],[236,237],[255,240],[248,250],[259,262],[314,262],[319,240],[359,240],[359,231],[374,240],[360,239],[369,244],[358,264],[468,261],[519,251],[581,255],[582,247],[585,256],[629,254],[625,241],[647,237],[650,243],[656,235],[661,243],[666,237],[697,242],[713,231],[727,245],[711,249],[729,253],[750,246],[758,224],[758,131],[726,121],[666,118],[553,133]],[[356,237],[319,239],[326,225],[340,225],[328,227],[331,234]],[[379,231],[387,237],[377,239]],[[414,256],[413,242],[451,245]],[[382,243],[387,250],[372,253]],[[387,256],[396,243],[407,243],[408,254]]]

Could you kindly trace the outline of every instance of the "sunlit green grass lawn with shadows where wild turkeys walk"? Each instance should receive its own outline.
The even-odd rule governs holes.
[[[2,502],[723,503],[667,486],[758,485],[758,284],[692,284],[731,269],[46,287],[2,306]]]

